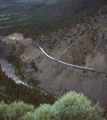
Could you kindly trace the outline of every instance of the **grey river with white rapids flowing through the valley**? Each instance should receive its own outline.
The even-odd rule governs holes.
[[[2,70],[5,71],[8,77],[11,77],[17,84],[20,83],[27,85],[27,83],[23,82],[19,77],[15,75],[13,66],[6,59],[0,58],[0,64]]]

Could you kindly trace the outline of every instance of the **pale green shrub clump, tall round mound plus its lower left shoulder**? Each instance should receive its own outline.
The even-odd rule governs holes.
[[[91,101],[83,94],[69,92],[52,106],[40,105],[34,113],[25,115],[23,120],[105,120],[101,117],[102,112],[99,106],[91,106]]]

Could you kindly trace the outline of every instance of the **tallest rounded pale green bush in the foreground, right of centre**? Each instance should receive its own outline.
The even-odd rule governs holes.
[[[103,120],[103,110],[90,104],[83,94],[69,92],[53,105],[55,120]]]

